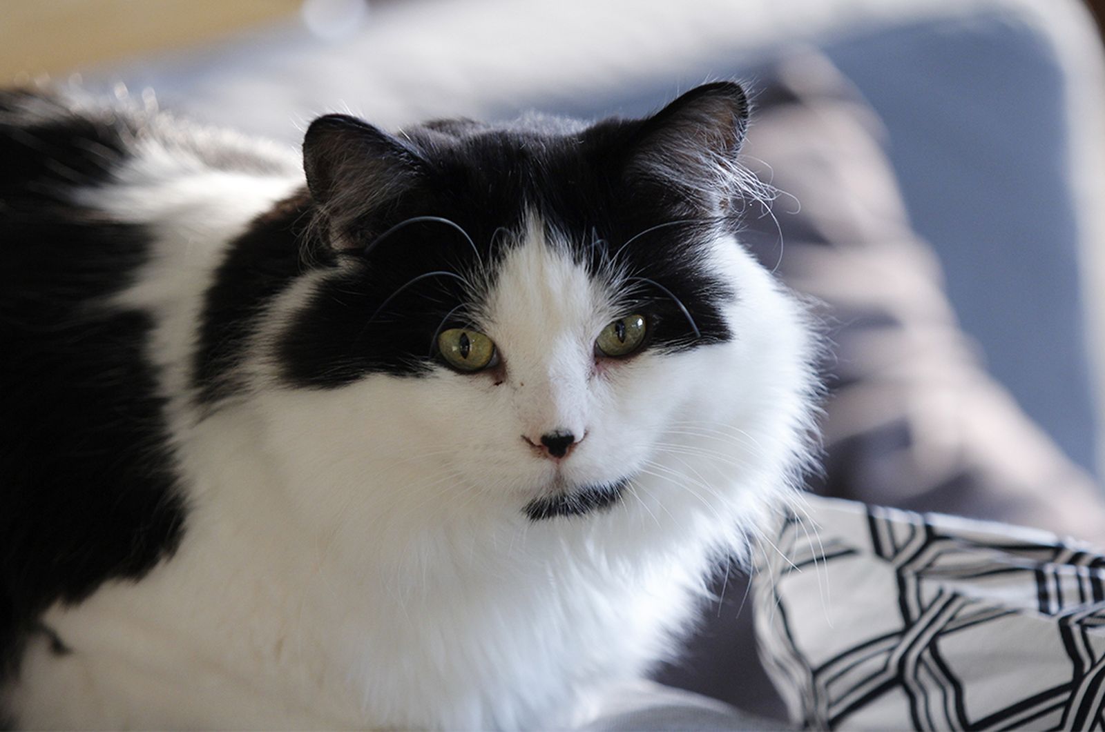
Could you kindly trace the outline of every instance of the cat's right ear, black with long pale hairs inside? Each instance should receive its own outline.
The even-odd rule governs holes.
[[[724,205],[740,185],[737,153],[747,128],[748,96],[739,84],[698,86],[641,120],[627,171],[699,203]]]

